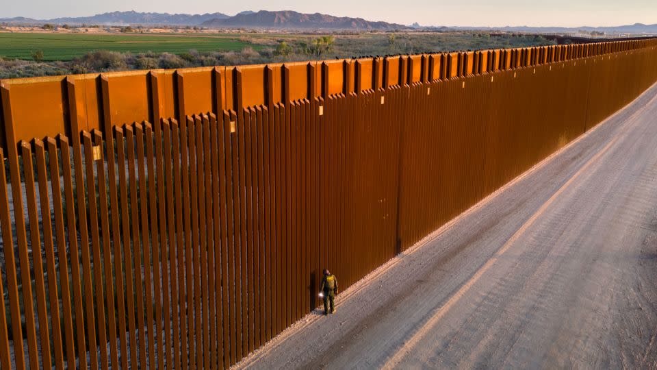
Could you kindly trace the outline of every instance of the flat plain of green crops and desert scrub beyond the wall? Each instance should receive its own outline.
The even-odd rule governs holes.
[[[0,32],[0,79],[554,45],[472,32]]]

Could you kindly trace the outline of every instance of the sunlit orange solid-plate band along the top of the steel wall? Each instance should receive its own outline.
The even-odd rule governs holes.
[[[655,45],[626,40],[385,58],[131,71],[0,82],[0,145],[296,99],[326,98],[414,82],[577,60]],[[12,126],[7,135],[7,126]],[[75,130],[74,130],[75,127]]]

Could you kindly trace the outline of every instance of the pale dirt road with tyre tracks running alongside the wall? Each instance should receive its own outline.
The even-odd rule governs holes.
[[[654,369],[656,336],[653,86],[237,367]]]

